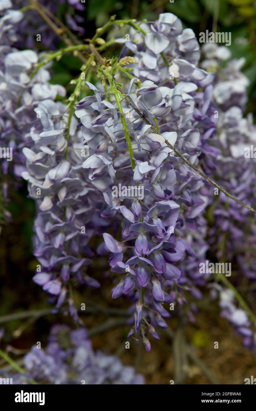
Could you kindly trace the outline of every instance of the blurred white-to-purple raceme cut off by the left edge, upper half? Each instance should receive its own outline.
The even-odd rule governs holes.
[[[50,75],[45,68],[30,78],[29,74],[38,62],[38,55],[33,50],[2,47],[0,58],[0,148],[3,152],[0,172],[4,187],[2,194],[7,201],[8,180],[19,187],[21,174],[26,170],[22,149],[33,144],[30,127],[36,128],[40,123],[35,107],[42,99],[65,95],[65,89],[49,83]]]

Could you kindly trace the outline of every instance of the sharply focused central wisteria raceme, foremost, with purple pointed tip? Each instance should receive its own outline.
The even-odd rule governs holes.
[[[182,272],[175,264],[185,254],[195,256],[189,243],[181,237],[186,236],[186,230],[195,230],[198,224],[205,224],[200,217],[204,201],[199,196],[202,182],[197,173],[174,157],[165,143],[175,145],[177,141],[179,150],[192,162],[198,162],[200,133],[192,126],[193,122],[196,124],[194,97],[184,92],[192,94],[198,87],[184,81],[173,87],[167,80],[169,87],[144,81],[138,88],[136,82],[134,78],[127,86],[128,100],[152,124],[154,121],[158,122],[158,127],[163,124],[163,132],[161,136],[154,134],[150,125],[145,125],[138,114],[131,111],[128,102],[122,101],[123,113],[129,113],[123,119],[133,150],[134,169],[120,121],[122,114],[120,109],[116,112],[114,99],[111,102],[102,100],[100,91],[87,83],[95,97],[78,102],[75,113],[80,118],[81,132],[89,146],[90,156],[83,166],[90,170],[89,178],[102,191],[107,203],[101,215],[117,219],[123,227],[119,240],[112,233],[103,233],[105,247],[99,247],[98,252],[105,254],[108,250],[111,271],[122,274],[120,282],[112,289],[112,297],[126,295],[135,302],[134,330],[141,333],[149,351],[147,333],[157,324],[166,327],[163,318],[170,317],[163,303],[170,304],[175,300],[174,289],[177,288],[179,296],[186,282],[191,285],[193,279],[198,280],[196,276],[186,278],[185,271],[181,278]],[[108,108],[100,112],[103,105]],[[173,131],[167,131],[168,125]],[[97,152],[99,147],[104,147],[101,154]],[[117,186],[127,187],[127,190],[133,187],[134,192],[143,189],[143,197],[122,193],[113,196]],[[182,216],[180,207],[183,208]],[[184,298],[180,297],[180,300]]]

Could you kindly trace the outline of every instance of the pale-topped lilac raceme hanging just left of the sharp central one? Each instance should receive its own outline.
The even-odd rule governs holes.
[[[100,286],[86,273],[94,255],[88,242],[95,226],[101,224],[100,204],[82,168],[88,149],[76,129],[76,120],[71,119],[67,143],[69,113],[65,105],[47,99],[35,111],[40,113],[41,125],[30,131],[33,147],[23,149],[27,171],[22,174],[38,209],[34,255],[40,268],[33,279],[59,309],[74,279],[83,285]],[[72,298],[68,301],[73,307]],[[74,317],[77,320],[76,309]]]

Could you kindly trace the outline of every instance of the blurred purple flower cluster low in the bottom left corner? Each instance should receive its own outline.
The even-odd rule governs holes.
[[[10,375],[0,370],[0,378],[13,384],[133,385],[144,384],[144,377],[124,366],[116,356],[93,351],[85,328],[70,330],[53,326],[45,349],[34,345],[23,359],[26,372]]]

